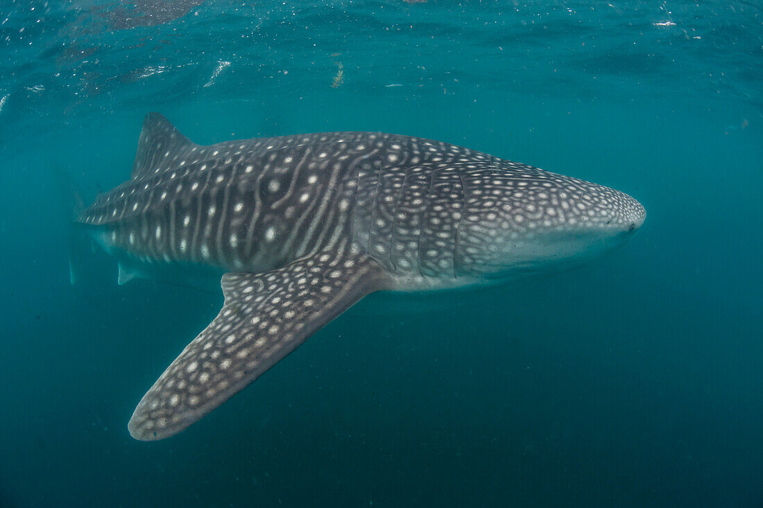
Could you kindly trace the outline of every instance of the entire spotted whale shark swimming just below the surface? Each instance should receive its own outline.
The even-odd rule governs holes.
[[[613,188],[449,143],[333,132],[202,146],[150,113],[130,180],[75,222],[117,258],[120,284],[222,287],[217,317],[130,418],[130,435],[151,441],[200,420],[367,294],[564,270],[623,245],[644,219]]]

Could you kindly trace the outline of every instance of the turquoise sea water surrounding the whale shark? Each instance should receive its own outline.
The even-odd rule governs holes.
[[[5,0],[0,44],[0,505],[763,504],[755,2]],[[576,272],[362,302],[137,442],[135,404],[222,298],[119,287],[104,254],[70,286],[58,175],[123,182],[148,111],[198,143],[430,137],[647,220]]]

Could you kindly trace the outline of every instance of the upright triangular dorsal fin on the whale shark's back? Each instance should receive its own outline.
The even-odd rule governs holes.
[[[160,172],[173,166],[175,157],[198,146],[183,136],[174,125],[159,113],[149,113],[143,119],[133,172],[135,178],[149,172]]]

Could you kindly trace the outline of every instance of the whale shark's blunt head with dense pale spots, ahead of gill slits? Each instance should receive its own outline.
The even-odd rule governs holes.
[[[523,166],[483,182],[468,201],[472,269],[513,278],[573,268],[622,246],[645,210],[613,188]]]

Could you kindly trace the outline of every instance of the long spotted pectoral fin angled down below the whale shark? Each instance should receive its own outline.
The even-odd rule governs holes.
[[[130,434],[163,439],[201,419],[381,288],[383,274],[349,248],[318,252],[272,272],[225,274],[223,308],[140,400]]]

